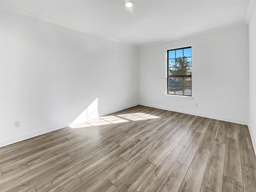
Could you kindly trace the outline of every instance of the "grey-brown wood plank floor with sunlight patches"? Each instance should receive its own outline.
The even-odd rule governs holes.
[[[135,106],[2,147],[0,191],[256,191],[246,125]]]

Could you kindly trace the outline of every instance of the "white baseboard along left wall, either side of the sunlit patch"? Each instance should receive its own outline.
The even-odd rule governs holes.
[[[138,104],[139,104],[138,102],[135,102],[135,103],[131,103],[131,104],[128,104],[128,105],[123,105],[123,106],[120,106],[120,107],[117,107],[117,108],[113,108],[113,109],[110,109],[110,110],[107,110],[107,111],[103,111],[103,112],[99,113],[99,116],[104,116],[104,115],[107,115],[107,114],[110,114],[110,113],[114,113],[116,111],[120,111],[120,110],[129,108],[129,107],[133,107],[133,106],[136,106]],[[22,133],[22,134],[15,135],[15,136],[12,136],[12,137],[1,139],[0,140],[0,147],[4,147],[4,146],[10,145],[12,143],[17,143],[19,141],[26,140],[26,139],[29,139],[29,138],[32,138],[32,137],[36,137],[38,135],[42,135],[44,133],[55,131],[55,130],[58,130],[58,129],[61,129],[61,128],[64,128],[64,127],[68,127],[73,121],[74,121],[74,119],[70,120],[70,121],[62,122],[62,123],[59,123],[59,124],[55,124],[55,125],[52,125],[52,126],[44,127],[44,128],[41,128],[41,129],[37,129],[37,130],[34,130],[34,131],[30,131],[30,132]]]

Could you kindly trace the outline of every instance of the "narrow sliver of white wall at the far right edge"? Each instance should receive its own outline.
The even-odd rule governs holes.
[[[256,152],[256,3],[249,22],[249,122]]]

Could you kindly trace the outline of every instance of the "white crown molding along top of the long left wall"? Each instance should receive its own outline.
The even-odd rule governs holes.
[[[35,18],[35,19],[38,19],[38,20],[43,20],[43,21],[46,21],[46,22],[49,22],[49,23],[52,23],[52,24],[55,24],[55,25],[60,25],[62,27],[70,28],[70,29],[80,31],[80,32],[83,32],[83,33],[86,33],[86,34],[90,34],[90,35],[93,35],[93,36],[97,36],[97,37],[100,37],[100,38],[108,39],[110,41],[114,41],[114,42],[117,42],[117,43],[125,44],[125,45],[132,46],[132,47],[138,47],[138,45],[135,45],[135,44],[131,44],[131,43],[127,43],[127,42],[124,42],[124,41],[117,40],[117,39],[113,39],[111,37],[102,35],[100,33],[96,33],[96,32],[93,32],[93,31],[90,31],[90,30],[87,30],[87,29],[84,29],[84,28],[76,27],[74,25],[71,25],[71,24],[68,24],[68,23],[65,23],[65,22],[62,22],[62,21],[59,21],[59,20],[55,20],[55,19],[52,19],[52,18],[49,18],[49,17],[45,17],[43,15],[39,15],[39,14],[36,14],[34,12],[29,12],[29,11],[26,11],[26,10],[23,10],[23,9],[19,9],[19,8],[16,8],[16,7],[7,5],[7,4],[1,3],[1,9],[6,10],[6,11],[10,11],[10,12],[14,12],[14,13],[18,13],[18,14],[21,14],[21,15],[25,15],[25,16],[28,16],[28,17],[32,17],[32,18]]]

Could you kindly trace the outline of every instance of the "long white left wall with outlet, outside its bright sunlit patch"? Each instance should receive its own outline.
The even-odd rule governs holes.
[[[65,127],[95,100],[100,115],[130,107],[137,85],[138,48],[1,10],[1,146]]]

